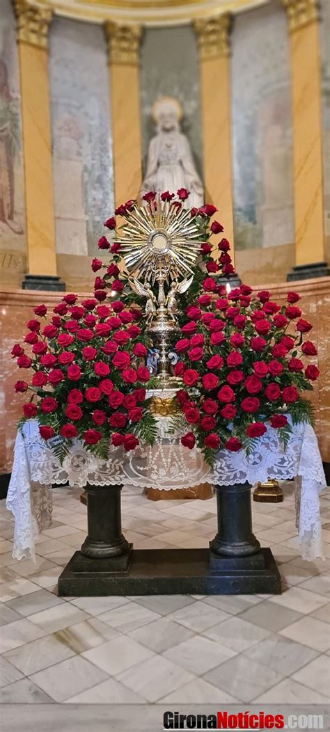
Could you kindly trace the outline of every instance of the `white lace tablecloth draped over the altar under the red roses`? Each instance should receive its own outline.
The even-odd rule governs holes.
[[[182,447],[178,436],[168,434],[164,417],[159,419],[153,447],[138,447],[132,452],[110,447],[108,460],[101,460],[76,440],[62,464],[40,438],[37,422],[30,420],[16,437],[7,496],[7,508],[15,516],[13,556],[35,558],[34,537],[51,523],[51,484],[69,483],[72,488],[83,488],[87,483],[123,484],[170,490],[201,482],[233,485],[247,481],[255,485],[270,477],[295,479],[301,556],[309,560],[323,557],[319,493],[326,487],[326,478],[318,441],[310,425],[295,425],[292,430],[286,449],[279,443],[277,430],[269,427],[249,456],[242,450],[220,450],[211,471],[199,449]]]

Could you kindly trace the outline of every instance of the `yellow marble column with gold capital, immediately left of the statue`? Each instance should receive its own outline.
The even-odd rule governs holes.
[[[107,21],[116,206],[138,198],[142,180],[138,53],[140,26]]]

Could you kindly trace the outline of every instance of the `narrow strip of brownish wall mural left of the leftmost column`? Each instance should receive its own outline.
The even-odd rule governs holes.
[[[20,126],[20,79],[10,0],[0,14],[0,250],[1,269],[23,271],[25,203]],[[7,277],[7,275],[6,275]]]

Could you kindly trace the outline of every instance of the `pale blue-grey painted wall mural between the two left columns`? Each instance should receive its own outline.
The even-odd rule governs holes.
[[[102,28],[55,18],[49,53],[56,251],[92,255],[114,205]]]

